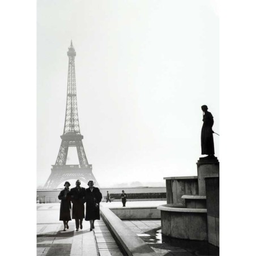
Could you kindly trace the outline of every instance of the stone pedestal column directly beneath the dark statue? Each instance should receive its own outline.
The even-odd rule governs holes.
[[[204,178],[219,175],[220,163],[217,157],[200,157],[197,162],[198,193],[206,195],[206,182]]]

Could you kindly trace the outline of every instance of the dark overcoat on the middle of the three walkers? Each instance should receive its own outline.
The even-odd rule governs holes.
[[[86,189],[80,187],[79,191],[76,187],[70,190],[72,202],[72,219],[84,218],[84,203],[86,202]]]

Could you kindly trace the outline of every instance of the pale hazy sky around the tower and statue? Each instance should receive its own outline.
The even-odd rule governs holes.
[[[219,133],[214,1],[37,1],[38,185],[61,145],[71,39],[80,131],[100,186],[196,176],[201,105]]]

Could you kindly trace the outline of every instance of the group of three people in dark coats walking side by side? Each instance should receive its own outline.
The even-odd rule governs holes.
[[[69,190],[70,183],[65,182],[65,189],[58,195],[61,200],[61,207],[59,213],[59,220],[63,221],[64,229],[69,228],[69,221],[71,220],[71,202],[72,202],[72,219],[75,219],[76,231],[83,229],[83,219],[90,221],[90,231],[94,228],[94,221],[100,219],[100,202],[102,194],[99,188],[94,187],[94,182],[88,182],[88,189],[81,187],[81,182],[76,181],[75,187]],[[84,215],[84,203],[86,203],[86,216]]]

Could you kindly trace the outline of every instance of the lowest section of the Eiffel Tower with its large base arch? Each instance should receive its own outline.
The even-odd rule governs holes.
[[[95,186],[99,187],[93,173],[92,165],[81,167],[80,165],[52,165],[51,174],[46,181],[43,189],[57,189],[61,182],[69,180],[80,180],[87,184],[89,180],[95,182]]]

